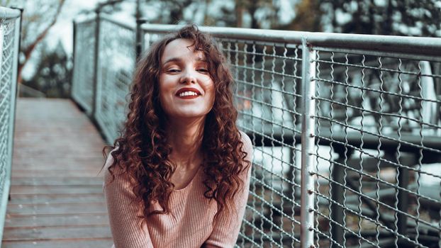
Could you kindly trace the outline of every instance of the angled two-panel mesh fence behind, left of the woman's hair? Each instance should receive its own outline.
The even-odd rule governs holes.
[[[74,27],[72,98],[112,143],[125,118],[125,97],[135,69],[135,26],[100,13],[76,21]]]

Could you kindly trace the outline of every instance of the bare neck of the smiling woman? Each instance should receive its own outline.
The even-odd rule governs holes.
[[[202,162],[204,123],[205,118],[168,121],[167,141],[172,146],[170,159],[180,169],[194,169]]]

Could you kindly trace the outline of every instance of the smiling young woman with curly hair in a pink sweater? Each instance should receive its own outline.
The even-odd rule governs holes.
[[[232,84],[222,52],[196,26],[140,60],[105,164],[115,247],[233,247],[252,144],[235,125]]]

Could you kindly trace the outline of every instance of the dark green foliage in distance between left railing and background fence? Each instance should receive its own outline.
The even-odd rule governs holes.
[[[43,44],[43,47],[46,45]],[[44,57],[40,58],[36,74],[29,81],[23,81],[23,84],[43,92],[50,98],[69,98],[72,62],[62,44],[58,43],[55,50],[44,48],[41,54]]]

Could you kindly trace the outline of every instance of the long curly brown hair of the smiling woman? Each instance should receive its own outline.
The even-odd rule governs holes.
[[[113,146],[103,150],[105,157],[106,151],[113,150],[113,163],[108,171],[115,176],[113,169],[118,166],[135,182],[133,193],[135,201],[143,203],[140,218],[144,219],[152,214],[169,213],[168,201],[174,188],[170,178],[176,165],[169,159],[172,147],[164,130],[166,115],[160,106],[159,78],[164,48],[177,39],[191,40],[194,50],[203,52],[215,85],[215,101],[206,116],[202,149],[204,196],[216,200],[218,213],[230,210],[228,203],[244,185],[240,174],[250,166],[235,124],[238,112],[233,105],[234,80],[225,57],[211,35],[202,33],[197,26],[184,26],[153,44],[138,62],[123,132]],[[150,210],[152,201],[157,201],[162,210]]]

